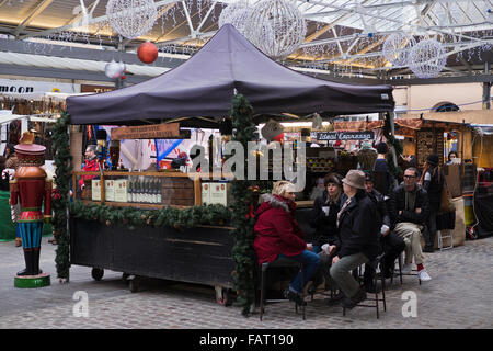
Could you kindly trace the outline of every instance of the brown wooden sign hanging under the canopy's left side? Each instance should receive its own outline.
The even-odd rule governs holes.
[[[180,123],[163,123],[138,125],[112,129],[112,140],[122,139],[183,139],[184,132],[180,131]]]

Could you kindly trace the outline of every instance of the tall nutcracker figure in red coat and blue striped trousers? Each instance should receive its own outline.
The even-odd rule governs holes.
[[[18,273],[18,278],[42,273],[39,249],[43,223],[49,223],[51,218],[51,181],[47,180],[46,172],[39,168],[44,163],[46,148],[33,141],[34,135],[26,132],[15,146],[19,168],[14,179],[10,181],[10,203],[15,205],[19,201],[21,204],[18,226],[25,269]]]

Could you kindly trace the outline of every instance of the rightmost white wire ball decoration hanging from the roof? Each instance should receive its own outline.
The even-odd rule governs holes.
[[[409,68],[417,78],[437,76],[447,63],[444,46],[436,39],[425,39],[417,43],[410,54]]]

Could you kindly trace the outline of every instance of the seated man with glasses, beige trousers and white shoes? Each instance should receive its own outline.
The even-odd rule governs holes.
[[[389,213],[393,231],[405,242],[405,261],[402,272],[411,271],[414,256],[419,279],[429,281],[432,278],[423,267],[421,247],[421,230],[429,214],[429,203],[426,191],[416,183],[416,176],[415,168],[408,168],[404,171],[404,183],[397,186],[390,196]]]

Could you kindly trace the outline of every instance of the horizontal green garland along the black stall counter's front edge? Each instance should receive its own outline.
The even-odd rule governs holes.
[[[83,220],[100,222],[107,226],[122,225],[129,229],[152,226],[173,227],[183,230],[198,225],[228,226],[231,222],[231,211],[219,204],[192,206],[184,210],[171,206],[160,210],[140,210],[84,204],[77,200],[70,204],[70,216]]]

